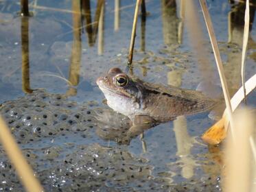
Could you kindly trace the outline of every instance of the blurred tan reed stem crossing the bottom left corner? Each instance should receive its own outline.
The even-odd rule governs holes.
[[[27,161],[23,157],[19,146],[16,144],[9,128],[1,117],[0,141],[3,144],[5,152],[8,154],[8,157],[12,161],[19,175],[19,178],[21,178],[25,189],[30,192],[43,191],[43,187],[40,186],[40,183],[34,177],[33,170],[31,169],[30,165],[27,164]]]

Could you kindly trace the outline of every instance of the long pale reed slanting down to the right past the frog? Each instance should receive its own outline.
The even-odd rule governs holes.
[[[211,23],[211,17],[209,15],[209,11],[207,8],[207,4],[205,0],[199,0],[200,1],[200,5],[202,8],[202,13],[205,17],[205,23],[207,25],[207,30],[209,33],[209,37],[211,40],[211,46],[213,47],[213,53],[216,59],[216,64],[218,67],[218,72],[220,75],[220,82],[222,84],[222,90],[223,90],[223,94],[224,94],[224,99],[225,99],[225,103],[226,103],[226,109],[227,109],[227,114],[229,117],[229,122],[231,125],[231,134],[233,134],[233,128],[234,128],[234,123],[233,123],[233,116],[232,116],[232,108],[231,108],[231,101],[230,101],[230,96],[229,96],[229,90],[228,90],[228,86],[226,84],[226,79],[225,79],[225,75],[224,75],[224,69],[223,69],[223,65],[222,65],[222,60],[220,58],[220,51],[218,49],[218,43],[216,40],[216,36],[214,34],[213,31],[213,26]]]

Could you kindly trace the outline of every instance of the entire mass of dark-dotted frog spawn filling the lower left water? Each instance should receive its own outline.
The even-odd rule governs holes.
[[[96,133],[110,139],[118,125],[114,120],[104,125],[95,102],[78,106],[40,90],[3,103],[0,111],[46,191],[218,191],[215,178],[172,183],[171,175],[152,174],[148,160],[133,156],[126,146],[104,147],[108,143]],[[118,134],[128,128],[122,120],[124,130]],[[0,191],[23,189],[1,146],[0,180]]]

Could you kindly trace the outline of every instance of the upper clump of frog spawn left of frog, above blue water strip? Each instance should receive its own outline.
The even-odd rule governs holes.
[[[49,137],[54,139],[69,132],[79,132],[80,136],[84,136],[84,132],[94,126],[91,110],[87,106],[78,109],[77,104],[65,96],[49,96],[43,91],[26,95],[17,101],[5,102],[1,113],[19,143],[31,143]]]

